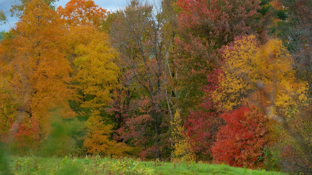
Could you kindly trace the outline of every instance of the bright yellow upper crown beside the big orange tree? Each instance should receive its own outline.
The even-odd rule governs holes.
[[[106,33],[88,28],[92,33],[76,46],[73,63],[76,75],[73,80],[85,95],[93,96],[83,107],[100,107],[111,100],[111,91],[118,84],[119,68],[114,63],[116,52],[110,47]]]

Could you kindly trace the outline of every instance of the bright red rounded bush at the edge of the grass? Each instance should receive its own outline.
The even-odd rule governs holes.
[[[221,118],[227,124],[217,133],[213,158],[239,167],[261,167],[259,158],[270,139],[268,119],[255,108],[247,107],[225,113]]]

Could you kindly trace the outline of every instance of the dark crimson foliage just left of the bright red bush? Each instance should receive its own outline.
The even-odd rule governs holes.
[[[212,94],[218,87],[221,69],[214,69],[206,76],[208,84],[202,89],[202,103],[185,120],[185,129],[190,137],[190,143],[199,160],[211,159],[211,146],[216,139],[220,126],[223,125],[220,113],[217,111]]]

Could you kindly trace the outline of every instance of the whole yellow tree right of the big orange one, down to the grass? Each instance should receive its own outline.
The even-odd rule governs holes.
[[[79,56],[74,60],[76,75],[73,77],[77,89],[83,93],[80,106],[91,111],[84,145],[90,153],[121,155],[127,147],[110,139],[113,125],[109,124],[104,110],[118,86],[119,68],[113,62],[117,54],[110,47],[106,33],[90,29],[88,41],[76,47]]]

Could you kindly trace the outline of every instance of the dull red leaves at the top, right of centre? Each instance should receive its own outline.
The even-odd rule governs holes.
[[[259,3],[258,0],[225,0],[222,3],[218,0],[178,0],[179,26],[181,30],[206,36],[211,42],[220,41],[223,45],[234,35],[249,30],[250,19],[258,15]]]

